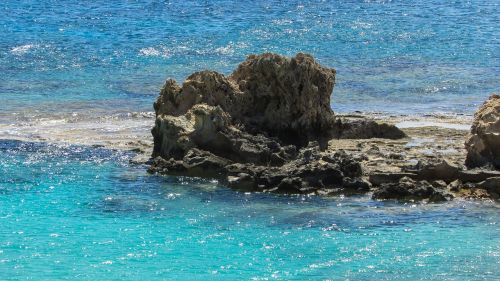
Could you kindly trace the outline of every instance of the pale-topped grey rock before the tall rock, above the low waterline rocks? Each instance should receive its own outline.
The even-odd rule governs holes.
[[[293,147],[282,148],[263,135],[251,135],[230,126],[226,112],[206,104],[196,104],[182,116],[160,115],[152,132],[153,157],[166,159],[181,159],[196,147],[235,162],[267,165],[282,164],[294,151]]]

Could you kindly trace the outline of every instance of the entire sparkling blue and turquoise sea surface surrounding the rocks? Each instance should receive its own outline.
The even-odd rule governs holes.
[[[470,116],[499,89],[499,5],[2,1],[0,280],[500,279],[494,203],[244,194],[89,146],[149,139],[167,77],[261,52],[335,68],[336,112]]]

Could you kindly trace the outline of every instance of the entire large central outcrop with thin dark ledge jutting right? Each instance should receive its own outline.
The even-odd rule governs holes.
[[[404,137],[373,121],[337,120],[335,70],[310,55],[252,55],[230,75],[168,80],[154,104],[150,172],[216,178],[239,190],[366,192],[358,160],[325,150],[332,138]],[[343,134],[344,132],[344,134]]]

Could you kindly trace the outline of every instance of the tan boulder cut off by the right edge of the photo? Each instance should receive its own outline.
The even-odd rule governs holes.
[[[465,147],[467,167],[500,169],[500,95],[492,95],[476,112]]]

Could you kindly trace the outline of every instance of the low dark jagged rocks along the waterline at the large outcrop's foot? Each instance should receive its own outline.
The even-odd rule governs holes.
[[[330,162],[322,161],[328,158]],[[308,146],[296,159],[279,167],[252,163],[233,163],[210,152],[193,148],[182,160],[155,158],[151,173],[209,177],[221,180],[229,187],[246,191],[310,193],[319,189],[368,191],[369,183],[362,180],[359,163],[347,154],[333,156]]]

